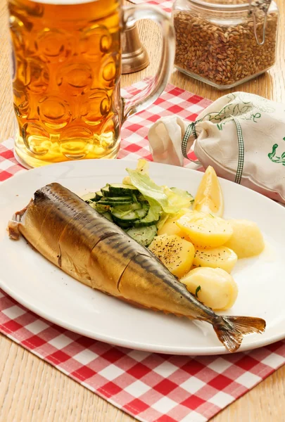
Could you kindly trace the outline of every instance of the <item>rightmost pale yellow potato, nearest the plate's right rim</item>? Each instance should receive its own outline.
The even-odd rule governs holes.
[[[259,255],[265,243],[258,225],[245,219],[228,220],[233,234],[224,245],[234,250],[239,258]]]

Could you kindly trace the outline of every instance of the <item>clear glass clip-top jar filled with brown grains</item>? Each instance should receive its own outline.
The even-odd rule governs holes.
[[[248,1],[176,0],[175,67],[218,89],[270,69],[276,59],[277,4]]]

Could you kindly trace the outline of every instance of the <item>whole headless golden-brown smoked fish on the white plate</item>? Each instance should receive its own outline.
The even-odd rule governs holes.
[[[138,306],[206,321],[230,352],[239,348],[245,333],[265,329],[262,319],[251,319],[249,327],[245,319],[250,317],[215,314],[150,250],[60,184],[39,189],[34,200],[15,216],[20,234],[65,273]],[[12,226],[14,232],[15,222],[11,230]],[[236,321],[238,330],[232,318],[243,319]]]

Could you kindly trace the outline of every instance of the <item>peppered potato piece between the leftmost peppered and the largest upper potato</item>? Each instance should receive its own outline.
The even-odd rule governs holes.
[[[222,268],[230,273],[237,259],[238,257],[232,249],[227,246],[219,246],[214,249],[196,249],[193,264],[195,267]]]

